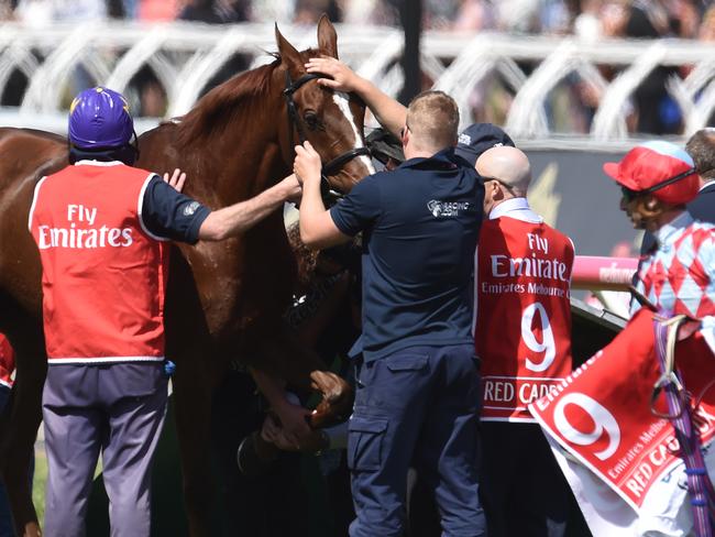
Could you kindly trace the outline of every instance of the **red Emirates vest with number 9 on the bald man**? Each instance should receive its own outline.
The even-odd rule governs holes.
[[[476,255],[482,419],[535,423],[527,405],[571,373],[573,244],[546,223],[503,217],[484,222]]]

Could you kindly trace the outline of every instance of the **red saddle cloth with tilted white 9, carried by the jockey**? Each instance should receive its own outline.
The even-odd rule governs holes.
[[[554,392],[529,406],[548,434],[639,513],[649,491],[680,462],[673,428],[651,413],[660,376],[652,313],[640,310],[613,342]],[[676,364],[695,398],[701,438],[715,436],[715,359],[700,333],[678,343]],[[664,413],[661,394],[654,404]]]

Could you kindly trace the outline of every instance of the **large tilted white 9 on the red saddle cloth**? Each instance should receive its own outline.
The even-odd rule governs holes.
[[[564,412],[566,405],[576,405],[585,410],[593,419],[593,430],[582,432],[574,428],[566,418]],[[608,446],[603,451],[594,453],[602,461],[614,454],[620,443],[620,427],[618,427],[616,418],[601,403],[584,394],[572,393],[564,395],[553,409],[553,424],[566,440],[579,446],[590,446],[606,432],[608,435]]]

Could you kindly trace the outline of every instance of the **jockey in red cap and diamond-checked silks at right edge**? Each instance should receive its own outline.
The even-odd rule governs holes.
[[[648,142],[619,163],[604,164],[604,172],[620,185],[620,208],[634,227],[657,240],[636,288],[658,309],[702,319],[703,337],[715,350],[715,227],[686,211],[700,189],[692,157],[671,143]],[[640,307],[634,300],[631,315]]]

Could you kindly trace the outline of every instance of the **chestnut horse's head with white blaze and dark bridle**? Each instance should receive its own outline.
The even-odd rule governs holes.
[[[365,106],[355,96],[323,88],[318,75],[307,74],[305,63],[320,54],[338,57],[338,35],[326,15],[318,23],[318,51],[298,52],[280,34],[276,25],[280,54],[280,74],[285,79],[285,124],[287,152],[293,145],[310,141],[320,154],[323,180],[340,193],[348,193],[360,179],[374,173],[363,139]]]

